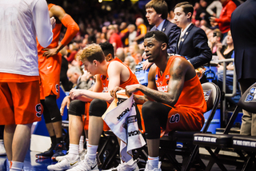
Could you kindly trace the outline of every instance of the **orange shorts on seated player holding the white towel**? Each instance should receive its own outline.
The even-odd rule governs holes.
[[[169,133],[172,130],[191,130],[198,131],[202,129],[205,118],[197,110],[186,107],[171,107],[168,113],[166,130],[162,130],[161,135]]]

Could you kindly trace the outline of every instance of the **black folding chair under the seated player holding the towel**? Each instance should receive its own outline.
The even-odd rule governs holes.
[[[207,103],[207,111],[211,109],[209,118],[201,132],[206,133],[218,108],[221,92],[218,85],[211,82],[202,84],[202,89]],[[172,131],[169,136],[161,137],[160,161],[167,159],[177,170],[190,170],[192,166],[197,166],[195,164],[199,164],[202,169],[205,169],[206,165],[204,165],[198,154],[198,145],[193,145],[194,133],[200,133],[200,131]],[[177,142],[182,142],[182,148],[177,147]],[[176,160],[175,155],[182,155],[182,164]]]

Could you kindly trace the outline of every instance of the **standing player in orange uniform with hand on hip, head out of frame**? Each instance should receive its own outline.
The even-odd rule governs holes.
[[[62,143],[62,116],[56,102],[56,98],[59,95],[59,79],[62,64],[62,55],[59,51],[74,38],[75,34],[79,31],[79,27],[61,6],[48,4],[48,10],[50,17],[56,18],[56,26],[53,30],[54,39],[47,48],[43,48],[38,43],[38,67],[43,116],[52,145],[46,152],[36,154],[36,157],[52,157],[52,160],[54,160],[55,157],[64,155],[62,150],[65,149]],[[58,43],[62,25],[66,26],[66,34],[62,41]]]

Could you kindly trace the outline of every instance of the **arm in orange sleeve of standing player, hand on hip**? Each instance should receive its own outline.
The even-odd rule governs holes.
[[[78,24],[74,22],[74,19],[71,18],[69,14],[66,14],[65,10],[63,10],[61,6],[52,6],[49,13],[55,18],[58,18],[58,20],[61,21],[64,26],[66,26],[66,33],[62,39],[62,42],[58,44],[57,48],[44,49],[46,52],[43,54],[43,56],[46,56],[46,58],[54,56],[54,54],[58,54],[58,52],[62,50],[62,48],[66,46],[79,31]]]

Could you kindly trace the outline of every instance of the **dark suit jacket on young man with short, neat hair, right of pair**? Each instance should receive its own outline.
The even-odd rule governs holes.
[[[189,59],[194,68],[198,68],[199,66],[210,62],[212,54],[204,30],[193,24],[190,25],[182,37],[182,41],[178,48],[179,37],[180,34],[178,35],[175,54],[179,54]]]

